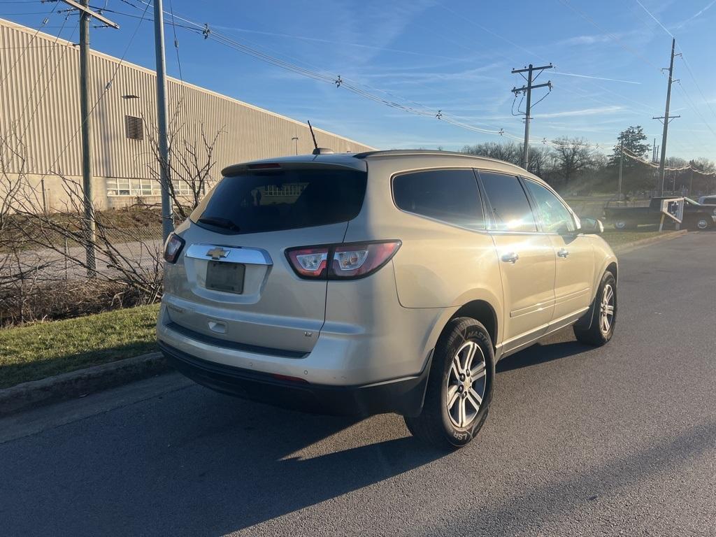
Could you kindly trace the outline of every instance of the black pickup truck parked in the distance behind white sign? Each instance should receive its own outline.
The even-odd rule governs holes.
[[[662,201],[677,196],[652,198],[648,207],[605,207],[604,218],[621,230],[636,228],[639,224],[657,224],[662,217]],[[667,221],[676,223],[670,218]],[[716,226],[716,205],[701,205],[690,198],[684,198],[682,228],[708,229]]]

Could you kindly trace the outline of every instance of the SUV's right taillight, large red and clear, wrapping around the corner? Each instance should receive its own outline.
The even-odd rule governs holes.
[[[305,246],[286,251],[301,278],[357,279],[380,269],[400,248],[400,241]]]

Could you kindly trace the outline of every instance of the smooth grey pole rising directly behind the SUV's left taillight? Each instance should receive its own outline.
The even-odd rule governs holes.
[[[169,142],[167,135],[167,66],[164,54],[164,9],[154,0],[154,50],[157,62],[157,128],[159,135],[160,184],[162,185],[162,236],[174,231],[174,211],[169,197]]]

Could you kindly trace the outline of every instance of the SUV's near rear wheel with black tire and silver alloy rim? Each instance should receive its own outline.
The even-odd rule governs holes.
[[[468,359],[471,363],[466,363]],[[461,372],[465,365],[473,372],[469,379]],[[494,379],[495,353],[485,326],[468,317],[453,319],[435,345],[422,412],[405,416],[405,425],[413,436],[435,448],[462,448],[483,427]]]

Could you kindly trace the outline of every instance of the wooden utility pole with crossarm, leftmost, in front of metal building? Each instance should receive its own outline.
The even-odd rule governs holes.
[[[74,0],[62,0],[73,9],[79,10],[79,110],[82,119],[82,203],[84,205],[84,237],[87,240],[84,250],[87,263],[87,277],[97,276],[97,257],[95,249],[97,234],[95,231],[95,200],[92,188],[92,122],[89,115],[89,20],[94,17],[105,26],[119,29],[119,25],[105,16],[89,9],[89,0],[82,4]]]

